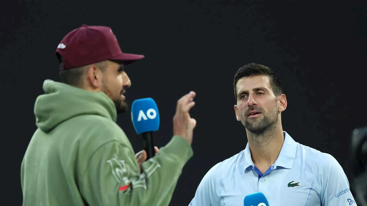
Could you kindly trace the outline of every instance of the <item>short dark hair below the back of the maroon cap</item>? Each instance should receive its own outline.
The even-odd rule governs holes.
[[[59,64],[60,68],[63,68],[63,61],[62,58],[59,57]],[[96,66],[101,67],[102,72],[105,71],[105,67],[107,66],[107,63],[105,61],[95,63]],[[61,70],[60,71],[60,78],[61,81],[65,84],[72,85],[74,87],[82,87],[82,77],[86,73],[89,65],[76,67],[72,69],[67,70]]]

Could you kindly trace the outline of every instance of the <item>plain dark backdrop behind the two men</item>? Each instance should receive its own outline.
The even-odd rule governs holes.
[[[22,202],[20,165],[36,129],[34,101],[45,79],[60,80],[56,47],[82,24],[110,26],[123,52],[146,56],[127,67],[132,87],[126,97],[130,105],[145,97],[156,101],[161,117],[156,146],[171,139],[177,99],[197,93],[191,111],[197,120],[194,156],[172,206],[188,205],[204,174],[246,147],[245,129],[233,110],[232,81],[250,62],[269,66],[283,82],[288,100],[283,129],[299,143],[333,155],[350,177],[350,136],[367,126],[366,1],[147,2],[0,3],[2,168],[9,184],[3,188],[11,205]],[[118,124],[135,151],[141,150],[130,113],[120,115]]]

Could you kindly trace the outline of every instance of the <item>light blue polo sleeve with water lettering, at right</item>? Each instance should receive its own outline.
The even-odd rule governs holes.
[[[331,155],[326,154],[321,180],[321,202],[323,206],[349,206],[356,202],[349,189],[349,181],[343,168],[338,161]]]

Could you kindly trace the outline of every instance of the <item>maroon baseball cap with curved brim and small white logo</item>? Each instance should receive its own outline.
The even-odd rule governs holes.
[[[66,34],[57,46],[56,55],[59,60],[62,58],[61,70],[104,60],[127,65],[144,58],[144,55],[123,53],[110,27],[85,24]]]

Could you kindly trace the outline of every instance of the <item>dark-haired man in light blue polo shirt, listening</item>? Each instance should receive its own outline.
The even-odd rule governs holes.
[[[189,206],[240,206],[254,192],[264,193],[270,206],[356,206],[337,160],[283,131],[287,99],[271,69],[245,65],[235,74],[233,87],[247,146],[207,172]]]

